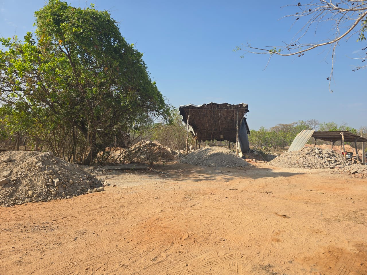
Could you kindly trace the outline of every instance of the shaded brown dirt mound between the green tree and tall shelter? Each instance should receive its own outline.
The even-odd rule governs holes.
[[[164,147],[158,142],[143,140],[134,144],[127,151],[126,159],[132,163],[153,163],[166,162],[174,158],[174,154],[168,147]]]

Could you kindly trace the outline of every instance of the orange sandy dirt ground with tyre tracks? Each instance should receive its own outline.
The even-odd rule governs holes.
[[[0,208],[0,274],[367,274],[366,179],[251,163]]]

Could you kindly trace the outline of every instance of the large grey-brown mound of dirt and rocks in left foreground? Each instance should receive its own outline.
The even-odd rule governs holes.
[[[103,191],[101,181],[52,152],[0,154],[0,205],[50,201]]]

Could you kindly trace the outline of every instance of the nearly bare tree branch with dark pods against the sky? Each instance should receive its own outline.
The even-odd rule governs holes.
[[[298,3],[295,5],[287,5],[284,7],[296,8],[298,11],[294,14],[286,15],[282,18],[295,18],[292,26],[299,21],[303,21],[305,18],[306,23],[300,27],[296,32],[295,36],[292,38],[291,42],[287,43],[283,41],[281,46],[266,46],[264,47],[254,47],[247,43],[245,47],[237,47],[235,51],[243,50],[252,54],[270,54],[279,56],[292,56],[298,55],[301,57],[305,52],[311,51],[315,48],[330,45],[331,52],[331,72],[329,80],[329,90],[331,78],[333,77],[334,61],[335,61],[335,51],[336,46],[339,41],[343,38],[348,41],[350,37],[358,35],[357,41],[365,41],[364,32],[367,30],[367,3],[363,0],[339,0],[338,2],[333,2],[332,0],[318,0],[310,1],[309,3],[302,4]],[[283,7],[283,8],[284,8]],[[320,24],[331,24],[331,30],[334,32],[334,36],[331,38],[326,37],[324,34],[324,39],[316,42],[301,42],[305,40],[306,34],[308,34],[313,28],[315,28],[315,33]],[[291,27],[292,27],[291,26]],[[367,47],[362,50],[367,49]],[[367,58],[361,56],[362,62]],[[270,60],[270,58],[269,58]],[[266,64],[266,67],[269,64]],[[265,68],[266,68],[265,67]],[[365,66],[357,66],[355,70],[359,70]],[[354,71],[354,70],[353,70]],[[332,91],[331,91],[332,92]]]

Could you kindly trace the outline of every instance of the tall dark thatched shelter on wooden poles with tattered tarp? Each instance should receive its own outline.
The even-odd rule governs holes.
[[[248,104],[208,103],[203,105],[188,104],[179,107],[182,121],[188,125],[195,139],[228,140],[236,142],[237,148],[246,152],[250,149],[248,144],[247,121],[244,115],[248,113]]]

